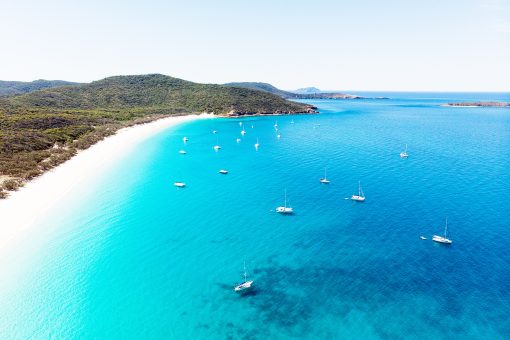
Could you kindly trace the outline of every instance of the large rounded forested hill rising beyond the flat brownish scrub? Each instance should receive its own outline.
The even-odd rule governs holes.
[[[10,98],[10,102],[52,109],[150,108],[171,113],[297,113],[310,109],[252,89],[197,84],[161,74],[110,77],[81,86],[31,92]]]

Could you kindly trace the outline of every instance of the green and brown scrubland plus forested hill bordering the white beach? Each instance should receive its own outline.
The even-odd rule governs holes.
[[[118,129],[170,115],[312,112],[267,92],[160,74],[0,98],[0,197]],[[313,111],[314,112],[314,111]]]

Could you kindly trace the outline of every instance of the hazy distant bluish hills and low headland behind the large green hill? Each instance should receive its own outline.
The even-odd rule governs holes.
[[[237,83],[227,83],[227,86],[234,86],[239,88],[253,89],[264,91],[268,93],[275,94],[284,99],[388,99],[386,97],[363,97],[354,94],[346,94],[340,92],[322,92],[316,87],[305,87],[301,89],[297,89],[295,91],[285,91],[280,90],[279,88],[268,84],[268,83],[259,83],[259,82],[237,82]]]

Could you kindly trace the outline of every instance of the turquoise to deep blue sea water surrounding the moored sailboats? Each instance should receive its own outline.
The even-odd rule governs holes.
[[[139,144],[2,259],[1,338],[508,339],[510,110],[438,104],[510,96],[388,96]]]

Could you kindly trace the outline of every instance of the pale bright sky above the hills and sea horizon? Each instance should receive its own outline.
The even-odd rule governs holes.
[[[0,0],[0,79],[510,91],[510,0]]]

